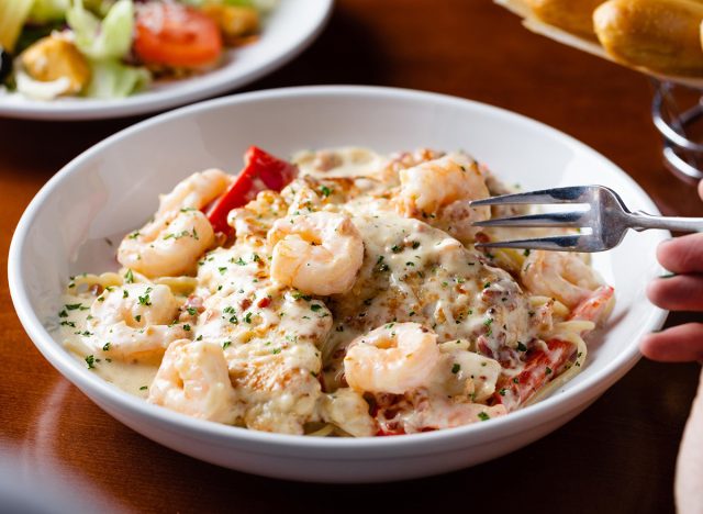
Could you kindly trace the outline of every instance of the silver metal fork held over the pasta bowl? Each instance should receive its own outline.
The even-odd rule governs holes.
[[[483,248],[526,248],[557,252],[603,252],[617,246],[628,228],[637,232],[665,228],[680,232],[703,232],[702,217],[652,216],[632,212],[620,195],[604,186],[573,186],[542,191],[504,194],[476,200],[471,206],[506,204],[588,204],[587,211],[553,212],[525,216],[502,217],[473,223],[475,226],[505,227],[580,227],[590,234],[572,234],[535,239],[478,243]]]

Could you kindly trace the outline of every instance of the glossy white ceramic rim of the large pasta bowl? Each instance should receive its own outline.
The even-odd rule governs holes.
[[[629,346],[624,349],[616,359],[598,371],[592,378],[590,378],[590,380],[584,380],[583,382],[578,383],[568,391],[547,398],[544,401],[531,405],[524,410],[513,412],[509,416],[501,416],[499,418],[491,420],[490,423],[478,423],[456,428],[426,432],[421,434],[409,434],[403,435],[402,437],[366,438],[324,438],[272,434],[196,420],[183,414],[150,405],[144,400],[133,396],[126,392],[121,391],[114,386],[111,386],[96,375],[85,372],[85,367],[81,367],[76,359],[70,357],[69,354],[64,348],[62,348],[60,345],[58,345],[48,334],[48,332],[46,332],[46,329],[43,327],[42,323],[30,305],[25,288],[19,280],[21,249],[24,244],[27,231],[32,225],[34,217],[37,214],[37,210],[40,209],[42,203],[51,194],[54,193],[54,190],[59,186],[60,181],[70,176],[74,171],[78,170],[82,166],[83,161],[92,158],[96,154],[102,152],[103,148],[119,143],[119,141],[125,135],[138,133],[141,131],[150,128],[154,125],[168,123],[181,118],[187,118],[198,111],[221,109],[228,105],[247,103],[249,101],[280,99],[281,97],[375,97],[380,99],[400,98],[405,100],[422,100],[431,103],[444,103],[448,107],[466,107],[467,104],[470,104],[472,109],[476,109],[478,111],[488,111],[493,116],[510,119],[511,123],[520,125],[531,125],[534,128],[545,131],[548,135],[559,137],[565,144],[571,146],[572,148],[590,154],[591,157],[603,161],[604,165],[612,167],[613,171],[622,174],[621,178],[627,181],[628,186],[633,188],[633,191],[637,192],[641,197],[643,205],[645,206],[645,209],[647,209],[652,214],[659,213],[659,210],[649,199],[647,193],[645,193],[645,191],[629,176],[627,176],[617,166],[615,166],[601,154],[596,153],[583,143],[580,143],[579,141],[560,131],[557,131],[556,128],[553,128],[548,125],[523,116],[521,114],[516,114],[496,107],[475,102],[471,100],[465,100],[438,93],[395,88],[366,86],[311,86],[248,92],[185,107],[176,111],[167,112],[165,114],[160,114],[158,116],[143,121],[121,132],[118,132],[116,134],[108,137],[101,143],[98,143],[96,146],[89,148],[88,150],[76,157],[74,160],[68,163],[40,190],[36,197],[32,200],[24,214],[22,215],[22,219],[20,220],[13,234],[8,260],[8,281],[10,284],[10,294],[14,303],[16,313],[20,317],[20,321],[22,322],[22,325],[24,326],[24,329],[27,332],[30,338],[34,342],[38,350],[60,373],[63,373],[79,389],[81,389],[82,391],[90,391],[91,396],[92,394],[98,393],[102,398],[108,399],[112,404],[121,404],[124,407],[134,411],[136,414],[154,418],[160,422],[163,426],[176,425],[180,428],[186,428],[189,431],[191,436],[212,440],[213,444],[226,445],[227,439],[236,439],[237,443],[250,442],[255,445],[268,445],[269,449],[272,450],[281,450],[286,448],[320,450],[320,455],[315,455],[315,458],[322,459],[325,459],[325,450],[334,449],[336,451],[330,451],[328,460],[339,459],[339,452],[343,452],[344,458],[347,460],[355,460],[355,457],[358,460],[364,460],[368,455],[364,450],[373,451],[375,449],[384,449],[387,451],[392,451],[393,454],[397,454],[399,456],[402,456],[403,454],[422,455],[423,452],[436,451],[438,446],[447,448],[460,446],[458,445],[458,443],[466,443],[467,438],[470,438],[472,445],[481,444],[482,442],[493,440],[495,438],[502,437],[503,435],[510,435],[511,432],[514,432],[514,424],[520,423],[520,420],[525,420],[526,426],[535,426],[542,424],[534,421],[535,418],[539,418],[539,414],[549,414],[545,417],[546,423],[548,422],[548,420],[556,417],[559,414],[572,411],[574,404],[590,404],[595,398],[598,398],[598,395],[602,394],[639,360],[640,354],[637,348],[637,342],[633,340],[629,342]],[[652,306],[651,313],[649,314],[647,322],[644,325],[644,329],[655,331],[660,328],[666,321],[667,314],[668,313],[666,311]],[[598,390],[598,394],[593,394],[593,390]],[[423,449],[425,449],[426,451],[420,450],[419,446],[423,446]],[[408,449],[408,451],[404,451],[405,449]]]

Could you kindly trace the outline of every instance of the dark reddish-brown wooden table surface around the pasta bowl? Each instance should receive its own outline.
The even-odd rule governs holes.
[[[438,91],[516,111],[601,152],[666,214],[703,215],[694,186],[661,164],[648,80],[528,33],[488,0],[339,0],[303,55],[246,89],[315,83]],[[136,121],[0,119],[2,269],[14,226],[44,182]],[[401,483],[300,484],[200,462],[112,420],[34,348],[5,276],[0,294],[0,463],[38,480],[60,477],[76,501],[118,512],[360,512],[406,502],[425,512],[673,511],[674,462],[696,365],[643,360],[562,428],[481,466]],[[695,317],[671,315],[669,324]]]

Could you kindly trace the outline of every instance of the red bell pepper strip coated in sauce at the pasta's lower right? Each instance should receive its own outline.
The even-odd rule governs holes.
[[[493,404],[502,403],[509,411],[522,405],[551,380],[576,351],[576,345],[566,340],[550,339],[546,344],[546,351],[528,351],[522,372],[513,378],[503,377],[498,381]]]

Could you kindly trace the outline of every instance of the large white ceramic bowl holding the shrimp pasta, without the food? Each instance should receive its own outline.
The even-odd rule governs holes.
[[[424,92],[312,87],[241,94],[188,107],[124,130],[80,155],[40,191],[10,248],[12,300],[42,354],[101,409],[136,432],[196,458],[250,473],[322,482],[423,477],[507,454],[571,420],[629,370],[637,340],[666,313],[645,300],[660,273],[663,232],[629,234],[594,256],[615,286],[606,331],[591,340],[585,369],[540,403],[487,423],[399,437],[314,438],[219,425],[154,406],[92,375],[51,332],[67,277],[116,267],[114,248],[157,206],[157,193],[194,170],[236,170],[250,144],[300,148],[369,146],[381,152],[464,148],[524,189],[603,183],[633,209],[656,213],[615,165],[571,137],[523,116]],[[604,435],[605,436],[605,435]]]

